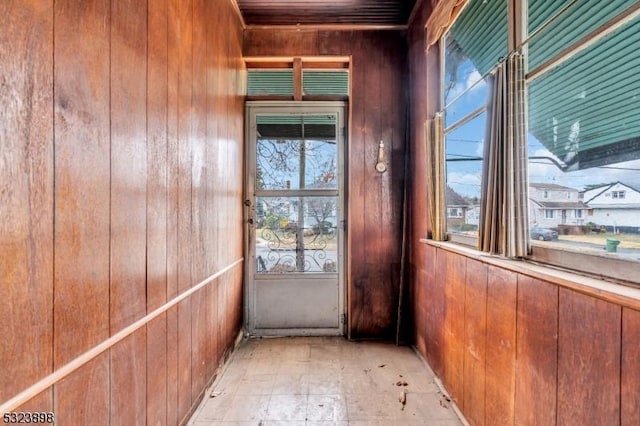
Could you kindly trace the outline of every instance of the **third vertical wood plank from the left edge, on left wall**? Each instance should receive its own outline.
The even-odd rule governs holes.
[[[147,310],[147,4],[111,2],[111,287],[114,334]],[[111,348],[111,423],[146,423],[146,329]]]

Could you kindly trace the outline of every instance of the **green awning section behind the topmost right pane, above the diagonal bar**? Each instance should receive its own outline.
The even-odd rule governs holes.
[[[550,23],[529,43],[529,69],[533,70],[553,55],[623,12],[637,0],[579,1]],[[529,34],[557,16],[569,0],[529,0]]]

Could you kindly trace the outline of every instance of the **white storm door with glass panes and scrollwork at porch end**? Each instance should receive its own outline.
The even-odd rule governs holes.
[[[248,102],[252,335],[343,333],[342,102]]]

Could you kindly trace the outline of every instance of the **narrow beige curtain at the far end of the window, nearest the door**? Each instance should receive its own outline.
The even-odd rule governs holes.
[[[427,203],[431,224],[431,239],[446,239],[445,169],[443,117],[437,113],[425,122],[427,143]]]

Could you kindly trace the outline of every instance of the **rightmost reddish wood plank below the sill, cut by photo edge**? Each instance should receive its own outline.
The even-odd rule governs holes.
[[[621,425],[640,424],[640,311],[622,310]]]

